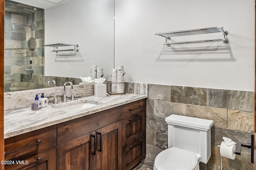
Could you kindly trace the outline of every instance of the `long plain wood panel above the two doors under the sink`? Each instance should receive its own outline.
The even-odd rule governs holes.
[[[122,120],[122,106],[58,124],[57,145]]]

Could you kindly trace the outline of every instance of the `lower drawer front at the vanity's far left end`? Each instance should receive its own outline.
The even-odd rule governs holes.
[[[5,170],[56,170],[56,147],[7,165]]]

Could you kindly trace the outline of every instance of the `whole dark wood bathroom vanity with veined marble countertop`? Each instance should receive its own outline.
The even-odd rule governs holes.
[[[10,125],[6,125],[5,160],[11,165],[5,169],[130,170],[146,155],[146,97],[102,97],[95,107],[74,113],[48,106],[38,116],[53,117],[34,126],[30,125],[30,108],[15,110],[28,113],[24,115],[28,127],[23,123],[23,129],[10,127],[8,131]],[[85,99],[96,101],[94,96]],[[16,112],[6,111],[6,116]]]

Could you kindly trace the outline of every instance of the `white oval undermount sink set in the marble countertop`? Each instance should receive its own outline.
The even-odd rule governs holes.
[[[61,102],[58,104],[52,104],[52,107],[58,108],[64,111],[80,111],[83,109],[89,109],[98,106],[97,102],[87,100],[73,100],[67,102]]]

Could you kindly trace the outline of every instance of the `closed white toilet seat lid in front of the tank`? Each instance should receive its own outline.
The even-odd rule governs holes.
[[[199,170],[198,158],[194,152],[172,147],[156,156],[154,170]]]

